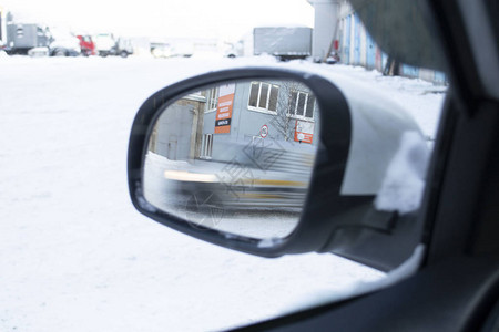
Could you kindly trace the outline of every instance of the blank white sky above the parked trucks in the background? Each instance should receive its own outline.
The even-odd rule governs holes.
[[[257,25],[313,27],[306,0],[0,0],[16,21],[77,33],[198,37],[236,41]]]

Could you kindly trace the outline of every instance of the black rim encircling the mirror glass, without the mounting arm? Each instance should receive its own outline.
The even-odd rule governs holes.
[[[319,138],[318,156],[312,176],[309,193],[338,196],[348,156],[352,128],[348,105],[342,92],[333,83],[317,75],[309,75],[307,73],[289,70],[254,68],[227,70],[189,79],[156,92],[144,102],[134,120],[129,145],[129,188],[133,205],[142,214],[165,226],[213,243],[253,255],[278,257],[284,253],[317,250],[317,243],[326,241],[327,238],[322,229],[319,230],[313,225],[314,222],[312,220],[315,220],[317,225],[323,225],[324,218],[322,217],[324,216],[322,215],[320,209],[330,207],[330,204],[335,204],[324,199],[322,200],[324,204],[320,204],[320,201],[316,201],[312,205],[308,204],[310,199],[317,199],[322,195],[309,194],[307,197],[302,219],[306,218],[310,221],[299,222],[291,236],[268,247],[262,246],[259,239],[232,234],[228,235],[202,226],[192,227],[190,222],[185,222],[176,216],[152,207],[146,203],[146,199],[143,196],[142,165],[144,149],[146,148],[152,124],[157,118],[161,110],[174,101],[179,95],[200,90],[203,86],[220,82],[251,80],[256,77],[302,82],[316,94],[319,110],[328,110],[334,105],[334,112],[322,112],[320,114],[324,120],[322,122],[320,132],[324,134],[320,135]],[[335,123],[336,125],[330,125],[332,123]],[[325,127],[323,124],[329,124],[329,126]],[[330,153],[333,151],[335,153]],[[317,167],[317,165],[319,167]],[[330,186],[325,184],[334,185]],[[323,237],[323,239],[320,239],[320,237]]]

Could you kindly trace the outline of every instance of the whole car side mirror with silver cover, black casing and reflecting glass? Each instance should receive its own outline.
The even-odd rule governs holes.
[[[223,247],[363,260],[359,245],[389,237],[398,218],[374,201],[405,133],[422,137],[397,105],[347,77],[262,68],[204,74],[139,110],[130,195],[150,218]],[[365,263],[388,270],[414,247]]]

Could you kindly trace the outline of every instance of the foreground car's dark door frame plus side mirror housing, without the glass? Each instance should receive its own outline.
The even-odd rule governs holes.
[[[499,6],[487,0],[350,2],[385,52],[449,76],[429,164],[420,133],[403,120],[404,112],[393,112],[389,97],[320,70],[240,68],[177,82],[144,102],[129,144],[132,203],[162,225],[225,248],[262,257],[333,252],[387,272],[386,279],[344,297],[304,301],[240,331],[498,331]],[[245,227],[221,229],[213,216],[212,222],[200,222],[144,195],[143,160],[165,110],[202,89],[263,79],[307,85],[320,108],[320,145],[291,232],[267,237]],[[416,199],[408,210],[401,193]],[[218,214],[205,200],[201,212]],[[245,221],[265,229],[259,221],[271,214]]]

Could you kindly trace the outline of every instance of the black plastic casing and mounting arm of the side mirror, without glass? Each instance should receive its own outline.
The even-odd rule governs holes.
[[[320,112],[320,135],[308,193],[298,225],[285,238],[255,239],[193,226],[189,220],[160,210],[143,194],[144,155],[153,124],[162,110],[181,95],[222,82],[268,79],[302,82],[315,94]],[[155,221],[198,239],[262,256],[334,252],[368,266],[390,270],[414,251],[419,228],[411,215],[396,229],[397,215],[374,209],[375,195],[342,195],[342,184],[353,139],[353,118],[344,93],[329,80],[316,74],[287,69],[249,68],[213,72],[160,90],[140,107],[133,122],[129,144],[129,189],[135,208]],[[186,222],[187,221],[187,222]],[[416,229],[416,230],[415,230]],[[400,235],[394,235],[399,231]],[[391,240],[389,240],[391,239]],[[371,250],[369,243],[379,245]],[[394,250],[394,243],[397,250]]]

